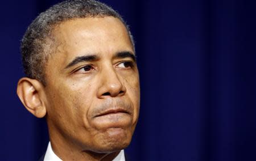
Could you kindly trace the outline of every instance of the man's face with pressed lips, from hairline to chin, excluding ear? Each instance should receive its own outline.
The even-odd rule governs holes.
[[[125,26],[110,16],[75,19],[54,35],[59,45],[48,58],[45,87],[53,146],[125,148],[139,115],[138,69]]]

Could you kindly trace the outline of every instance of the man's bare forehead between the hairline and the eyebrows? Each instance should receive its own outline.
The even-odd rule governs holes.
[[[131,50],[126,27],[112,16],[104,18],[81,18],[68,20],[55,29],[58,51],[68,56],[77,54],[114,53],[118,50]]]

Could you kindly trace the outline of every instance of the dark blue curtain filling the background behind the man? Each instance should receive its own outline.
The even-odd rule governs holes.
[[[1,2],[0,160],[37,160],[44,119],[16,96],[19,43],[59,1]],[[256,1],[108,1],[135,37],[141,113],[131,160],[256,160]]]

